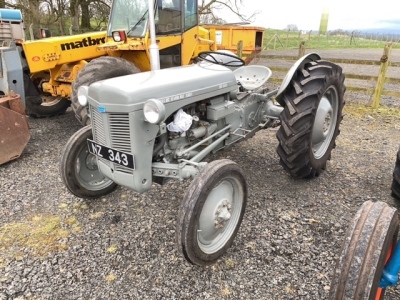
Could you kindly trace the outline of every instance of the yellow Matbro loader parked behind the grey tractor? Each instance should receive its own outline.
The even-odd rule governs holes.
[[[153,3],[161,68],[191,64],[207,50],[236,52],[240,45],[245,59],[262,49],[264,28],[200,26],[196,0]],[[107,31],[32,41],[23,35],[21,12],[0,9],[0,24],[7,25],[0,25],[0,40],[11,41],[0,51],[0,95],[18,95],[32,117],[62,114],[72,104],[78,121],[89,124],[87,108],[77,100],[80,85],[151,69],[148,7],[148,0],[114,0]]]

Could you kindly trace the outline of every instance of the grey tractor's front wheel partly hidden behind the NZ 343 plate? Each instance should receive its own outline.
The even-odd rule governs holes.
[[[87,139],[92,139],[90,125],[75,132],[61,154],[60,174],[68,190],[80,198],[98,198],[111,193],[116,184],[97,168],[96,157],[90,154]]]

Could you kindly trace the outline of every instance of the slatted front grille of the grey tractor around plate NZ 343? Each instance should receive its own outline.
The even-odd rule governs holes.
[[[99,144],[107,145],[106,133],[104,130],[105,120],[108,122],[110,133],[111,148],[126,153],[131,153],[131,136],[129,130],[129,114],[122,113],[100,113],[96,107],[90,107],[92,125],[94,132],[94,140]],[[106,119],[103,119],[105,117]],[[104,161],[104,160],[102,160]],[[106,162],[106,161],[104,161]],[[129,168],[119,164],[113,164],[116,171],[133,174]]]

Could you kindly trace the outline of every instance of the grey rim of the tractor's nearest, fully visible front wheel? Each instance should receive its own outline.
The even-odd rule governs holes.
[[[204,202],[199,218],[197,241],[207,254],[220,250],[235,233],[243,206],[243,189],[235,178],[216,185]]]

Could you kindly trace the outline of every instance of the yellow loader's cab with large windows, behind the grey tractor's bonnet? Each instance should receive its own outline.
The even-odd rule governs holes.
[[[107,29],[107,42],[99,46],[100,49],[106,50],[108,55],[132,61],[141,71],[151,69],[148,52],[148,5],[148,0],[114,0]],[[197,52],[213,50],[210,47],[214,42],[206,39],[203,48],[198,48],[199,37],[204,35],[201,31],[205,30],[198,26],[197,9],[196,0],[154,2],[155,33],[161,68],[188,65]]]

